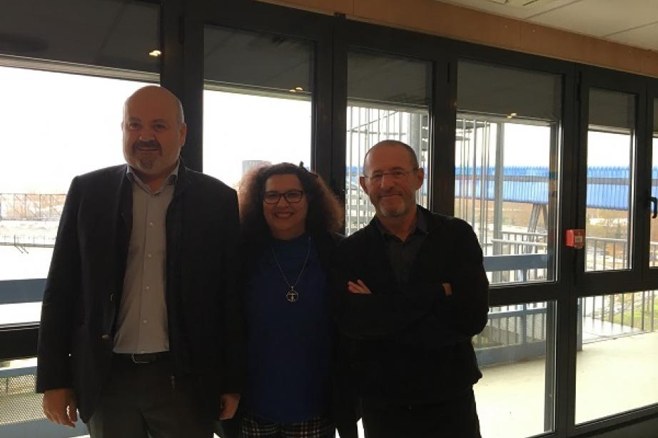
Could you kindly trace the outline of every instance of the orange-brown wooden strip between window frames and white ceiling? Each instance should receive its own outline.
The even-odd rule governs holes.
[[[658,53],[435,0],[263,0],[460,41],[658,77]]]

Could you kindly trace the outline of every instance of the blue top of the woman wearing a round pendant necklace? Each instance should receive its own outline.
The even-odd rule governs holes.
[[[310,245],[310,246],[309,246]],[[298,300],[286,299],[306,254],[295,290]],[[313,239],[303,234],[290,241],[266,245],[245,292],[247,320],[247,385],[243,406],[271,422],[300,422],[326,414],[330,402],[333,329],[328,276]]]

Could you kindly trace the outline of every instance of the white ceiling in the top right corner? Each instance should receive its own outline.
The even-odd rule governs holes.
[[[440,0],[658,51],[658,0]]]

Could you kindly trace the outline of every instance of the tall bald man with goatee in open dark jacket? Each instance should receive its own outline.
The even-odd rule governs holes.
[[[46,417],[74,427],[78,410],[93,438],[210,438],[243,382],[236,192],[183,165],[165,88],[133,93],[121,126],[127,165],[75,177],[66,197],[36,390]]]

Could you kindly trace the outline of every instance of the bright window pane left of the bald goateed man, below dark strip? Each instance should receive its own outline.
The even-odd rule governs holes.
[[[46,277],[71,179],[124,162],[123,102],[143,85],[0,66],[0,129],[22,145],[2,150],[0,325],[39,320],[43,285],[9,280]]]

